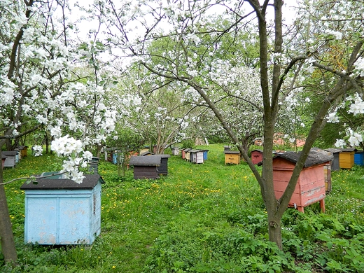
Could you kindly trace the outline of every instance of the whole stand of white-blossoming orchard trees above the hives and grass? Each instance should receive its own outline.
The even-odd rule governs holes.
[[[51,144],[80,183],[90,151],[121,139],[163,153],[223,136],[253,172],[282,248],[312,146],[363,146],[363,14],[355,0],[0,1],[0,147],[25,141],[40,155]],[[305,139],[279,200],[276,133]],[[261,170],[248,156],[257,137]],[[1,248],[16,262],[0,174]]]

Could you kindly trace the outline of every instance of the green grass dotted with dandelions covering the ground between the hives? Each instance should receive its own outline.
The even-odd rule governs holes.
[[[194,165],[172,156],[168,176],[125,178],[100,162],[102,232],[92,246],[24,244],[22,182],[6,186],[19,265],[0,272],[364,272],[364,169],[332,172],[332,192],[282,219],[283,251],[267,240],[267,217],[248,166],[225,165],[223,145]],[[29,155],[5,180],[59,169],[52,155]]]

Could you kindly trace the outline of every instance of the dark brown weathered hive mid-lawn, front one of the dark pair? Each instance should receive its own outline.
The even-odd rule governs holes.
[[[160,156],[132,155],[129,165],[134,166],[134,179],[158,179],[160,161]]]

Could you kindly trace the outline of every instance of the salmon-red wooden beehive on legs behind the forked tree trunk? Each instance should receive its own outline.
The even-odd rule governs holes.
[[[283,153],[273,158],[274,193],[279,199],[292,176],[295,163],[300,153]],[[330,157],[323,154],[310,155],[304,163],[304,168],[297,180],[297,185],[288,204],[304,212],[304,207],[320,202],[321,209],[325,211],[325,177],[323,167],[330,162]]]

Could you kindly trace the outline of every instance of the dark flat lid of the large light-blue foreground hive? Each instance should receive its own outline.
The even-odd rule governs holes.
[[[20,190],[88,190],[94,188],[97,183],[105,183],[99,174],[85,174],[83,182],[78,184],[72,179],[42,179],[36,178],[37,184],[25,182]]]

